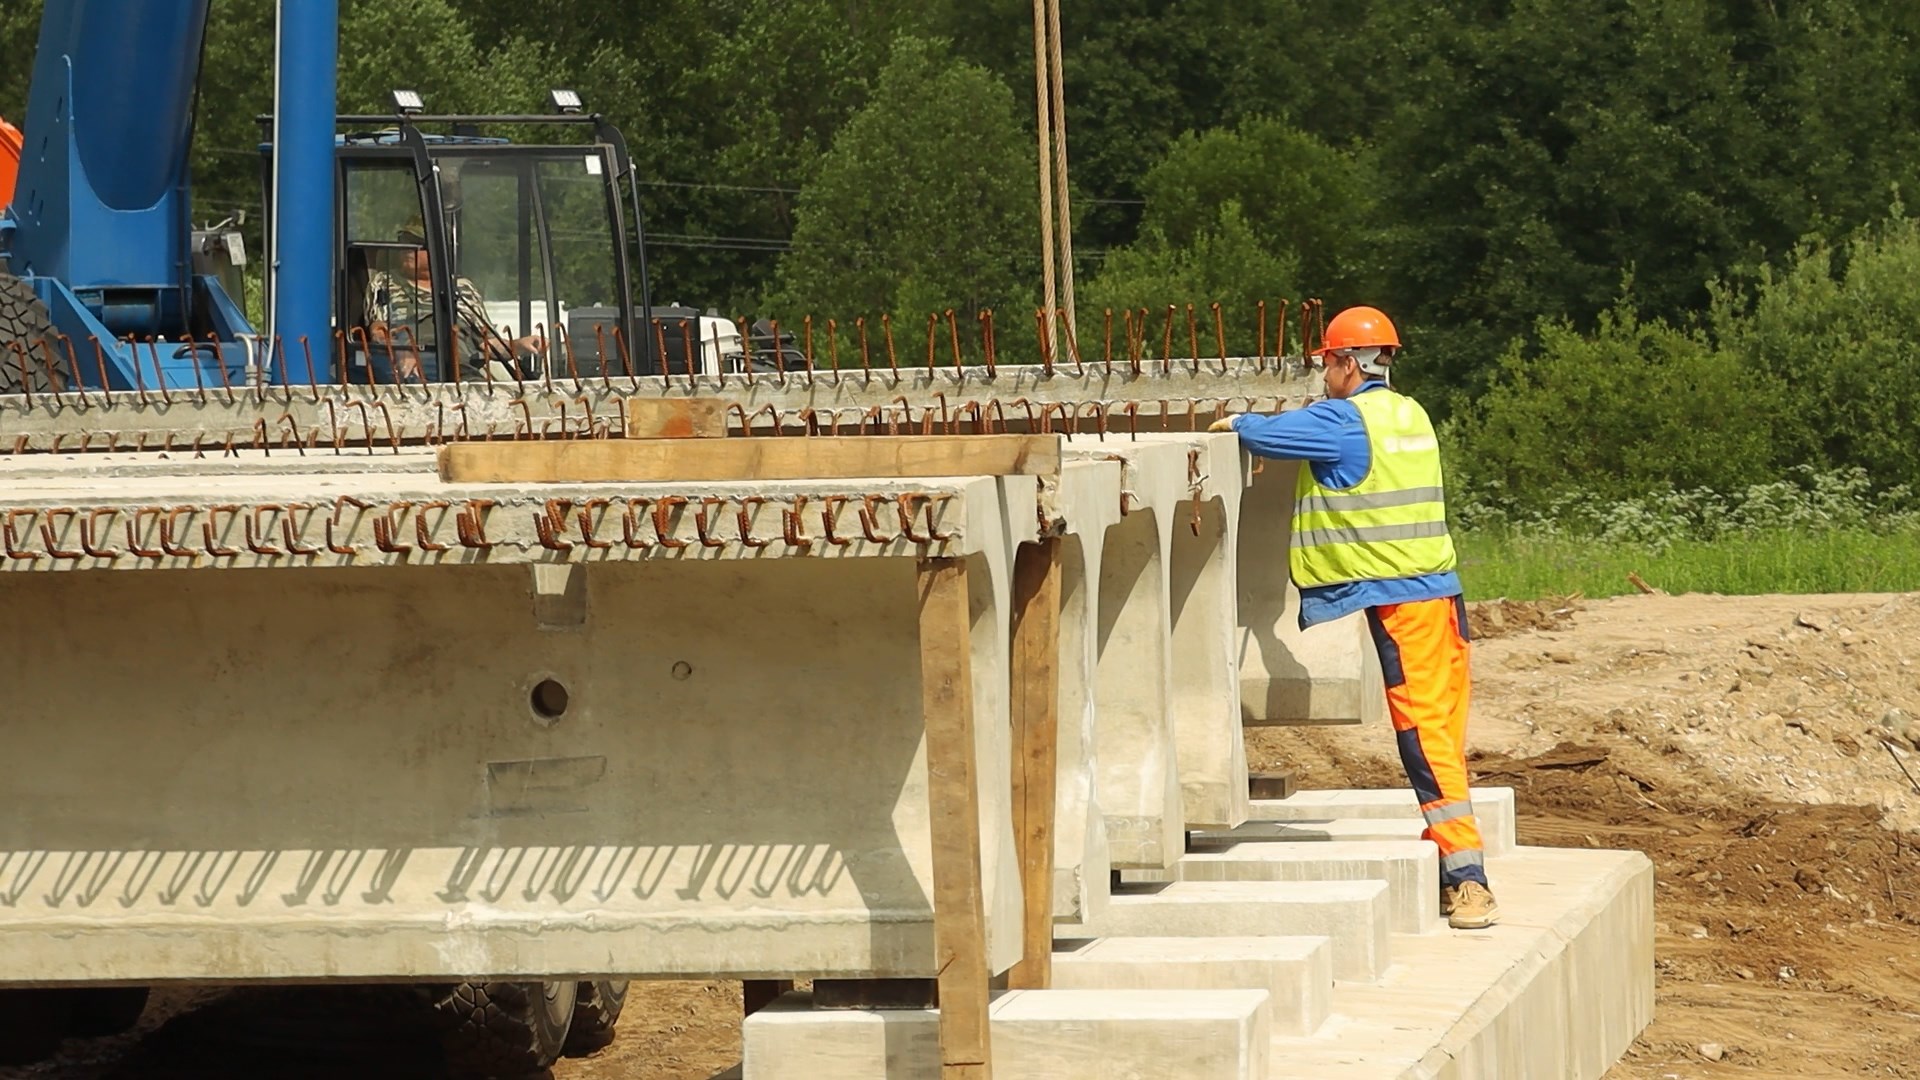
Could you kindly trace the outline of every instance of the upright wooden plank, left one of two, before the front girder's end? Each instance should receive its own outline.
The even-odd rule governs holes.
[[[966,559],[920,561],[920,707],[933,830],[941,1080],[991,1080],[987,911],[973,761],[973,619]]]

